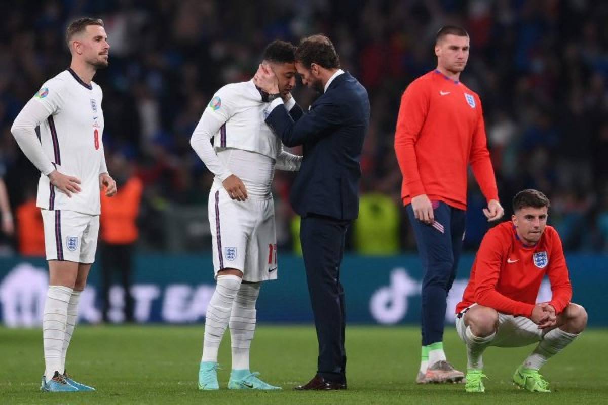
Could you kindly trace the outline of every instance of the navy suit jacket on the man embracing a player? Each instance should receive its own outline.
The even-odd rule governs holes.
[[[292,207],[302,217],[356,218],[359,162],[370,123],[367,91],[345,72],[334,78],[307,114],[299,110],[294,106],[288,114],[278,106],[266,118],[283,145],[303,145],[302,165],[291,188]]]

